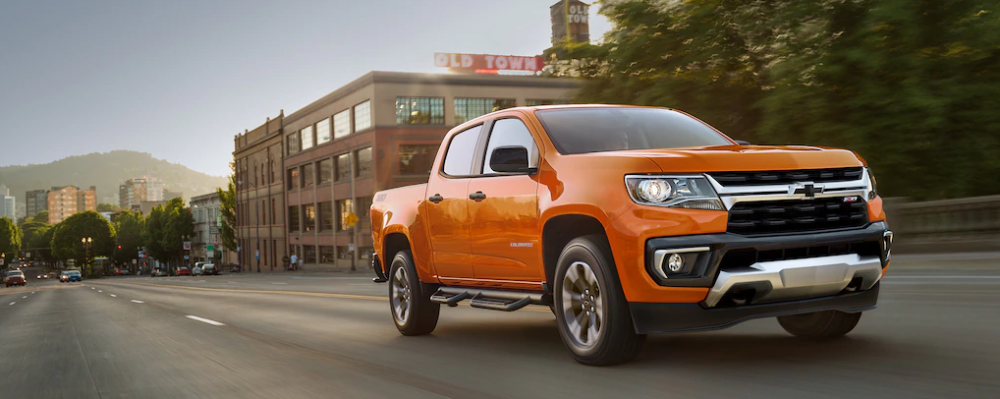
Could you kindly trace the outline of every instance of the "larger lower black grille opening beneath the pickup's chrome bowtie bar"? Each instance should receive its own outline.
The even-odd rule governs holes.
[[[861,227],[868,207],[860,197],[737,202],[729,210],[733,234],[781,234]]]

